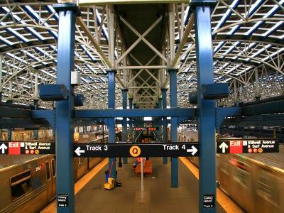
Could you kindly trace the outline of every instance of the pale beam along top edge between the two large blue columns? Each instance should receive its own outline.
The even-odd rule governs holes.
[[[79,6],[106,5],[106,4],[163,4],[188,3],[188,0],[78,0]]]

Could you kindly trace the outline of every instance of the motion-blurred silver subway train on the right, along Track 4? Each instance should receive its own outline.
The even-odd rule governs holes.
[[[179,141],[198,141],[197,131],[179,133]],[[189,157],[198,166],[197,157]],[[219,188],[245,212],[284,212],[284,146],[280,153],[217,154]]]

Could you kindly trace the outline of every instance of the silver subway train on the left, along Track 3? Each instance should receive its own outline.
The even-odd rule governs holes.
[[[77,143],[105,143],[108,135],[84,133]],[[74,158],[75,181],[103,158]],[[0,155],[0,212],[40,212],[56,196],[55,155]]]

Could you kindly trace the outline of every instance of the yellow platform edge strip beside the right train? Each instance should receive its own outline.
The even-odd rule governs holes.
[[[180,157],[180,160],[182,163],[187,167],[190,172],[195,175],[195,178],[199,180],[199,170],[198,168],[193,165],[193,163],[188,160],[186,157]],[[217,202],[222,206],[222,208],[226,212],[232,212],[232,213],[239,213],[244,212],[233,200],[231,200],[230,197],[228,197],[222,190],[217,188]]]

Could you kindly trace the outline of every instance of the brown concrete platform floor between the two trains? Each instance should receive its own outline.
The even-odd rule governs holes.
[[[170,187],[170,161],[163,165],[162,158],[153,160],[153,174],[144,177],[141,200],[141,177],[132,170],[134,158],[118,168],[121,187],[104,190],[105,166],[75,196],[75,212],[96,213],[158,213],[198,212],[198,180],[179,160],[178,188]],[[170,160],[170,158],[169,158]],[[116,160],[117,161],[117,160]],[[116,162],[117,164],[117,162]],[[217,212],[224,212],[217,204]]]

